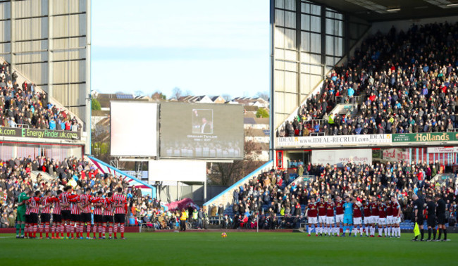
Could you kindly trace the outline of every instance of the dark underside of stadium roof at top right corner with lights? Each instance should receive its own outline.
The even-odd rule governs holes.
[[[388,21],[454,16],[458,0],[313,0],[364,20]]]

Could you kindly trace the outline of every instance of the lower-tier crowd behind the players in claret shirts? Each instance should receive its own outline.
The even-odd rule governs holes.
[[[402,208],[400,225],[402,229],[412,229],[411,196],[439,193],[445,196],[447,202],[447,220],[456,220],[456,175],[448,175],[444,185],[431,182],[435,175],[439,175],[436,169],[440,169],[440,165],[422,162],[411,165],[401,162],[385,165],[349,163],[342,168],[311,164],[305,168],[313,177],[291,179],[287,171],[272,169],[237,185],[231,213],[226,213],[233,217],[229,227],[256,227],[256,213],[259,212],[259,228],[298,228],[305,222],[305,205],[311,197],[335,198],[345,195],[357,198],[358,201],[369,196],[397,196]]]

